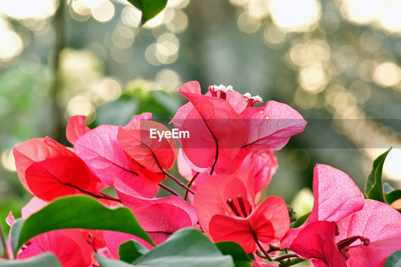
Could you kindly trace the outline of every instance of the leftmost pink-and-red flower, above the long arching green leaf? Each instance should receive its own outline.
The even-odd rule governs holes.
[[[55,140],[35,138],[13,150],[22,185],[38,198],[50,201],[59,196],[95,193],[99,180],[70,148]]]

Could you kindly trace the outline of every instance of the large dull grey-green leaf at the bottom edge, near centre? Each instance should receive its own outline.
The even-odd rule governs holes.
[[[201,231],[190,227],[178,230],[133,264],[152,267],[235,266],[231,256],[223,255]]]

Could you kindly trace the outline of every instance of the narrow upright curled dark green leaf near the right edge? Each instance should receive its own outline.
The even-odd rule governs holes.
[[[365,196],[369,199],[385,202],[381,173],[383,171],[384,161],[390,150],[391,148],[381,154],[379,157],[377,157],[377,159],[375,159],[375,161],[373,162],[373,168],[368,178],[366,179],[365,186]]]

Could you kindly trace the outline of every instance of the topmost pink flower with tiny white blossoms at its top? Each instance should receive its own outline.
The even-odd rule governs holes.
[[[232,87],[224,88],[209,87],[206,95],[196,81],[178,88],[190,103],[178,109],[170,123],[190,132],[189,138],[178,142],[195,171],[233,174],[249,153],[279,150],[304,130],[306,121],[288,105],[268,101],[263,107],[254,107],[261,101],[259,97],[246,95],[252,102],[248,105]]]

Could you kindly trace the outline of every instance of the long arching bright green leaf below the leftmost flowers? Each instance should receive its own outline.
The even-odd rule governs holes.
[[[32,237],[69,228],[118,231],[154,245],[130,209],[107,208],[93,198],[75,195],[54,200],[26,220],[16,220],[11,230],[14,255]]]

